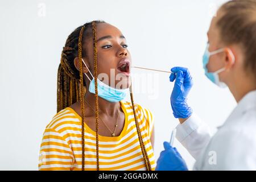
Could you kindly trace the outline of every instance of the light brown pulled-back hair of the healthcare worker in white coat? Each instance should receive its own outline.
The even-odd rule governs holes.
[[[245,55],[245,69],[256,80],[256,0],[234,0],[218,10],[217,27],[220,39],[226,44],[239,44]]]

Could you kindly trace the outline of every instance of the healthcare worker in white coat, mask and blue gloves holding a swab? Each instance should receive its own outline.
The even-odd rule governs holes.
[[[170,81],[176,80],[171,106],[180,121],[177,140],[196,159],[195,170],[256,170],[255,0],[229,1],[220,7],[210,24],[203,65],[210,81],[228,86],[237,106],[212,137],[187,105],[192,87],[188,69],[172,68],[176,75],[171,74]],[[156,170],[187,170],[187,166],[176,148],[164,142]]]

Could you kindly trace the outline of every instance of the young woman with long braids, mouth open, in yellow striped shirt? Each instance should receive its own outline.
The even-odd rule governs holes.
[[[89,22],[68,36],[40,170],[155,169],[154,119],[133,102],[130,63],[125,37],[108,23]],[[129,88],[131,102],[123,102]]]

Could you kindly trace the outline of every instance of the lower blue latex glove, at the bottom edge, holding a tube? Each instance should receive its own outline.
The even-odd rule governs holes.
[[[175,147],[164,142],[164,151],[161,152],[156,164],[156,171],[188,171],[187,164],[181,158]]]

